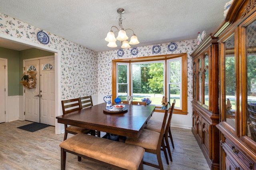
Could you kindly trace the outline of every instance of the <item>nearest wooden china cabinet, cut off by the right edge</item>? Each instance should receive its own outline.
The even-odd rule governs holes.
[[[256,170],[256,0],[234,0],[219,43],[220,169]]]

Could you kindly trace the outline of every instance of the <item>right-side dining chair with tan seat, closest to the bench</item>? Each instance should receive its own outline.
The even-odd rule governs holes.
[[[164,113],[164,119],[163,119],[163,122],[161,125],[160,133],[158,133],[156,131],[150,131],[148,129],[143,129],[142,133],[140,134],[140,136],[138,138],[128,137],[125,141],[125,143],[144,148],[145,152],[156,154],[156,157],[158,160],[158,165],[150,163],[150,162],[146,162],[146,161],[143,161],[143,164],[152,166],[154,168],[158,168],[160,170],[164,169],[162,159],[161,159],[161,147],[164,151],[164,155],[167,156],[163,137],[164,137],[164,130],[166,129],[166,121],[169,116],[169,113],[168,113],[169,109],[170,109],[170,107],[168,109],[166,109],[166,111]],[[169,164],[168,161],[167,161],[167,164]]]

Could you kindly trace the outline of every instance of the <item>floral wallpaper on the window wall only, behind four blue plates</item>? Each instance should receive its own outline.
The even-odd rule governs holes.
[[[105,51],[98,53],[98,94],[112,94],[112,60],[126,59],[134,57],[147,57],[154,55],[167,55],[177,53],[188,54],[188,98],[192,98],[192,57],[191,53],[196,49],[196,39],[187,41],[178,41],[176,43],[176,50],[170,51],[168,45],[170,43],[158,44],[160,46],[158,53],[153,53],[152,48],[155,45],[148,45],[137,47],[138,53],[132,53],[132,47],[129,49],[122,49],[124,54],[118,55],[118,50]],[[135,55],[136,54],[136,55]],[[105,76],[102,76],[105,75]],[[108,76],[106,76],[108,75]]]

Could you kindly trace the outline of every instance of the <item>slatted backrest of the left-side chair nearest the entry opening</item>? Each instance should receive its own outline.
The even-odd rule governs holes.
[[[62,100],[61,104],[62,104],[62,113],[63,114],[67,114],[72,111],[81,109],[79,98]]]

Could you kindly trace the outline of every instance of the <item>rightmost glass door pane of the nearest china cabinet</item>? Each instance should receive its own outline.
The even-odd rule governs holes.
[[[256,142],[256,21],[246,27],[245,55],[247,136]]]

